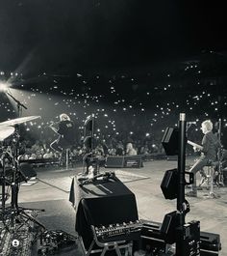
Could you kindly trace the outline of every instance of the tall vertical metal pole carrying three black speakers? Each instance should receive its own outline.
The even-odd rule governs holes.
[[[178,134],[178,193],[177,193],[177,211],[179,214],[180,226],[185,224],[185,166],[186,166],[186,114],[180,114]]]

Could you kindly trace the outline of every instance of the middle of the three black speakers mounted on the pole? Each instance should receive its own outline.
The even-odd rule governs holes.
[[[177,198],[177,188],[178,188],[178,170],[172,169],[167,170],[164,173],[164,179],[161,184],[161,189],[164,194],[165,199],[175,199]]]

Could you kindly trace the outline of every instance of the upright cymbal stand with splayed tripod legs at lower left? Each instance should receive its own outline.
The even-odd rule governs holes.
[[[20,176],[26,181],[26,177],[19,171],[18,167],[18,141],[19,141],[19,134],[18,130],[16,129],[13,134],[13,154],[12,154],[12,161],[13,161],[13,175],[11,181],[11,188],[12,188],[12,201],[11,206],[5,208],[5,212],[3,215],[4,224],[6,229],[11,232],[15,233],[18,229],[20,229],[24,224],[28,223],[28,221],[32,221],[36,223],[41,230],[45,230],[45,226],[42,225],[32,214],[26,213],[26,211],[30,211],[32,213],[44,212],[44,209],[29,209],[29,208],[22,208],[18,206],[18,193],[19,193],[19,181],[18,179]],[[20,225],[15,225],[15,224]]]

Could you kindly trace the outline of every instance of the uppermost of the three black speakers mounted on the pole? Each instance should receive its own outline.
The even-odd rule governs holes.
[[[166,128],[162,144],[167,156],[178,155],[178,128]]]

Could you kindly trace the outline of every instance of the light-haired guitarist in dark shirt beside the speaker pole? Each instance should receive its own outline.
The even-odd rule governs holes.
[[[203,170],[203,167],[209,165],[209,163],[216,160],[217,151],[220,147],[220,142],[213,133],[213,123],[210,120],[206,120],[202,123],[201,126],[202,132],[204,134],[202,139],[202,147],[199,149],[201,151],[201,156],[190,168],[189,172],[194,174],[194,183],[191,186],[191,191],[186,193],[188,196],[197,196],[196,189],[196,173],[200,171],[200,174],[203,177],[203,180],[207,179],[207,176]],[[198,151],[198,148],[193,147],[194,151]]]

